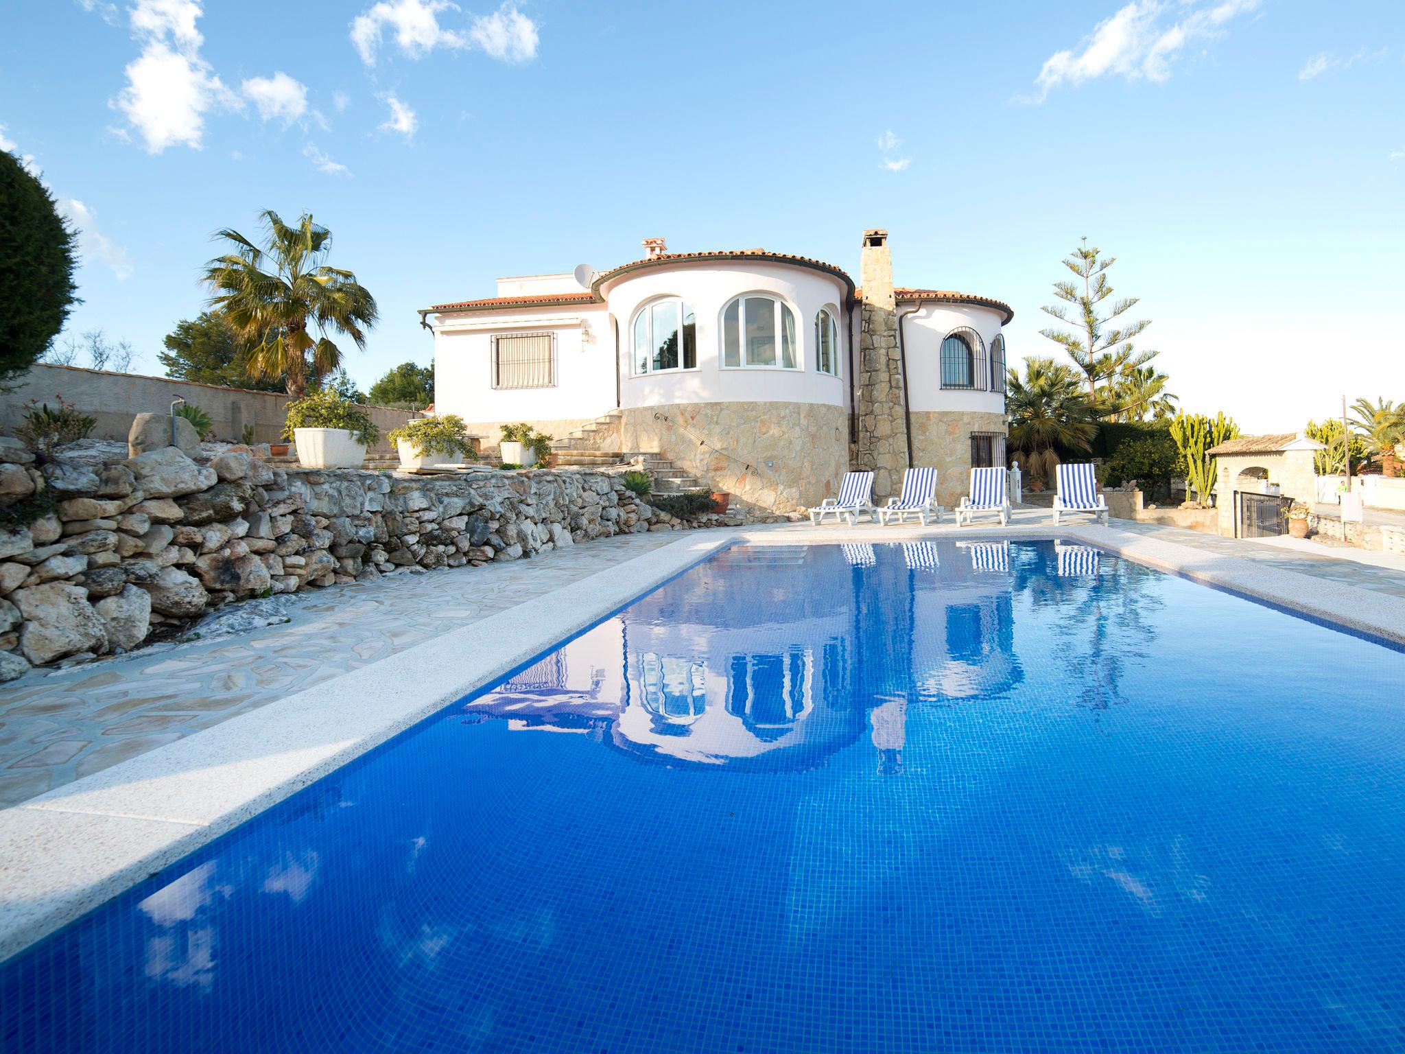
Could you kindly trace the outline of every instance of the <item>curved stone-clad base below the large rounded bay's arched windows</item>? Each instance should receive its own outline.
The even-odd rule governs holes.
[[[837,496],[849,468],[844,408],[825,403],[634,408],[624,410],[621,443],[625,450],[658,451],[710,489],[776,513]]]

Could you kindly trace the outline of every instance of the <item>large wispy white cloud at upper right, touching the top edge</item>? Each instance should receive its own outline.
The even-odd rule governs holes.
[[[1061,84],[1116,74],[1127,80],[1163,83],[1170,79],[1170,65],[1198,41],[1225,32],[1239,14],[1253,11],[1260,0],[1132,0],[1104,18],[1080,42],[1082,51],[1059,51],[1040,70],[1033,96],[1023,103],[1043,103]]]

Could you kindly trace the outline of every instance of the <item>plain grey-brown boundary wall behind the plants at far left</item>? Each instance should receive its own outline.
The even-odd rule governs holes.
[[[124,443],[135,415],[169,415],[171,399],[177,396],[209,415],[215,437],[226,443],[239,443],[243,438],[244,424],[253,426],[254,443],[282,443],[282,422],[288,416],[288,396],[278,392],[254,392],[244,388],[177,381],[170,377],[114,374],[107,370],[38,363],[20,379],[14,391],[0,393],[0,431],[14,431],[14,426],[20,423],[21,408],[30,399],[48,401],[52,405],[58,395],[97,419],[93,438]],[[395,454],[385,433],[419,415],[392,410],[388,406],[367,409],[371,412],[372,423],[381,429],[381,441],[368,453]],[[492,434],[496,445],[496,429]]]

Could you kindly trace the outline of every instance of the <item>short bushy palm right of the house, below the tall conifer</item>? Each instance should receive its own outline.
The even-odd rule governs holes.
[[[1052,358],[1026,358],[1023,378],[1009,371],[1005,409],[1010,447],[1024,457],[1031,482],[1054,475],[1058,450],[1086,451],[1097,431],[1082,379]]]

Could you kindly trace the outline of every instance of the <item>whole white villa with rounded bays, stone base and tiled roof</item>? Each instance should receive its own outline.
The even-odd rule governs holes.
[[[777,512],[830,496],[849,468],[874,469],[887,497],[908,465],[937,467],[951,506],[972,465],[1005,464],[1013,312],[894,287],[887,230],[864,232],[861,289],[802,256],[643,247],[423,309],[437,412],[489,447],[528,422],[577,451],[658,454]]]

